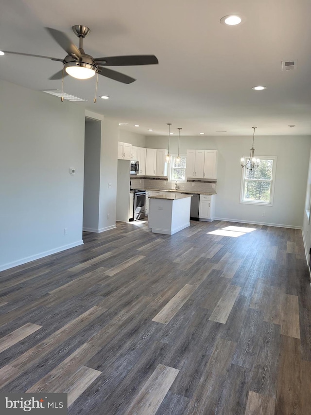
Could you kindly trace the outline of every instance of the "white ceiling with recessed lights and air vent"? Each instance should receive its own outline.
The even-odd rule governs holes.
[[[242,24],[220,23],[232,13],[244,17]],[[65,78],[66,92],[85,98],[91,111],[129,123],[124,129],[161,135],[172,123],[181,135],[251,136],[252,126],[256,135],[311,135],[310,16],[310,0],[1,0],[0,50],[63,59],[66,52],[44,27],[78,46],[71,26],[86,25],[87,54],[159,60],[112,67],[137,81],[100,76],[97,96],[110,99],[97,104],[95,77]],[[289,60],[297,69],[283,72],[281,62]],[[61,69],[47,59],[0,56],[0,77],[34,90],[61,89],[61,81],[48,80]],[[252,90],[256,85],[267,90]]]

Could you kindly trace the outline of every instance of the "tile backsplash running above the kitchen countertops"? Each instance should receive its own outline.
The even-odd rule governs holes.
[[[215,186],[213,188],[213,185]],[[204,192],[204,193],[216,193],[217,192],[217,180],[212,179],[189,179],[186,183],[178,182],[177,186],[179,191],[187,192]],[[167,177],[148,177],[148,176],[136,176],[131,177],[132,189],[154,189],[154,190],[176,190],[175,182],[169,181]]]

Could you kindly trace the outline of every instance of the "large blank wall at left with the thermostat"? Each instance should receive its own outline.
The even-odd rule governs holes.
[[[2,80],[0,91],[4,270],[83,243],[85,109]]]

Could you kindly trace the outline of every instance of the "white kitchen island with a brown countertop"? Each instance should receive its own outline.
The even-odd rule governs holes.
[[[190,226],[191,196],[170,193],[150,196],[148,227],[151,232],[173,235]]]

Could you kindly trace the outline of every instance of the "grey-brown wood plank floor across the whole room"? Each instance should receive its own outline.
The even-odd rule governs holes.
[[[69,415],[310,415],[301,231],[191,221],[84,233],[0,273],[0,392]]]

